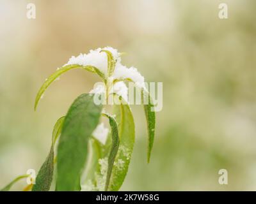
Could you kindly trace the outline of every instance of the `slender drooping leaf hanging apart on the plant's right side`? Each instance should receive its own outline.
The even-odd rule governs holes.
[[[144,101],[148,101],[148,105],[144,105],[145,116],[147,119],[147,129],[148,129],[148,154],[147,161],[150,162],[150,155],[154,143],[155,137],[155,126],[156,126],[156,113],[154,110],[154,104],[152,103],[152,98],[147,90],[142,90]]]

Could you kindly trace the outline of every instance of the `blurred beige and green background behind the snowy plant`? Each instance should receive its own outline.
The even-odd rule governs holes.
[[[220,3],[228,19],[218,18]],[[99,80],[70,71],[34,112],[45,78],[109,45],[148,82],[163,82],[150,164],[143,108],[132,106],[136,145],[122,190],[256,190],[255,10],[254,0],[0,0],[0,187],[40,168],[54,122]],[[228,185],[218,183],[222,168]]]

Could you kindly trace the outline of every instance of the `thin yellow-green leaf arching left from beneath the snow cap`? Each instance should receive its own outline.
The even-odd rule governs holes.
[[[79,64],[70,64],[67,66],[63,66],[62,68],[58,69],[56,72],[54,72],[50,77],[48,77],[44,84],[42,85],[42,87],[40,87],[38,93],[36,94],[36,99],[35,99],[35,106],[34,109],[36,110],[36,107],[40,101],[40,99],[42,98],[45,90],[47,89],[47,87],[49,87],[49,85],[51,85],[52,82],[54,82],[54,80],[56,80],[58,77],[60,77],[60,75],[62,75],[63,73],[69,71],[70,69],[85,69],[87,71],[91,71],[93,73],[97,73],[101,78],[105,78],[104,74],[101,73],[99,71],[99,69],[95,68],[94,66],[81,66]]]

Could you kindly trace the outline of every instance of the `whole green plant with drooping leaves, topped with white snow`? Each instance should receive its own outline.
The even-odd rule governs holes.
[[[144,77],[136,68],[122,65],[120,55],[111,47],[90,50],[88,54],[71,57],[67,64],[45,80],[36,95],[35,110],[47,87],[71,69],[79,68],[95,73],[103,84],[94,87],[87,94],[81,94],[72,103],[67,114],[57,120],[52,131],[49,155],[38,171],[32,191],[49,191],[55,172],[54,166],[56,191],[120,189],[131,160],[135,136],[125,82],[133,82],[143,94],[143,99],[148,101],[143,106],[148,129],[147,159],[150,161],[155,132],[155,112],[152,111],[154,105]],[[111,105],[111,113],[106,112],[103,107],[106,103],[95,103],[95,98],[108,102],[109,96],[120,102]],[[110,129],[100,123],[100,117],[109,120]],[[58,147],[55,150],[54,145],[57,142]]]

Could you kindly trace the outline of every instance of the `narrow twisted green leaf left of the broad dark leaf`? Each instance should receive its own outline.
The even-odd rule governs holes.
[[[57,120],[52,131],[51,150],[36,176],[36,184],[33,185],[32,191],[49,191],[52,183],[54,171],[54,144],[61,133],[65,116]]]

